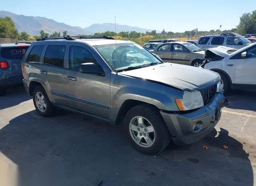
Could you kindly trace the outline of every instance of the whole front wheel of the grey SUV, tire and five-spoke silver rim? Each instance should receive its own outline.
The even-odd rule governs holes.
[[[141,121],[144,121],[143,127],[140,124],[142,123]],[[149,105],[137,105],[130,109],[124,117],[124,127],[132,146],[143,154],[154,155],[161,152],[171,139],[168,128],[159,111]],[[150,131],[153,130],[153,132],[148,129]],[[139,142],[135,142],[136,139]],[[152,143],[150,144],[147,141]]]

